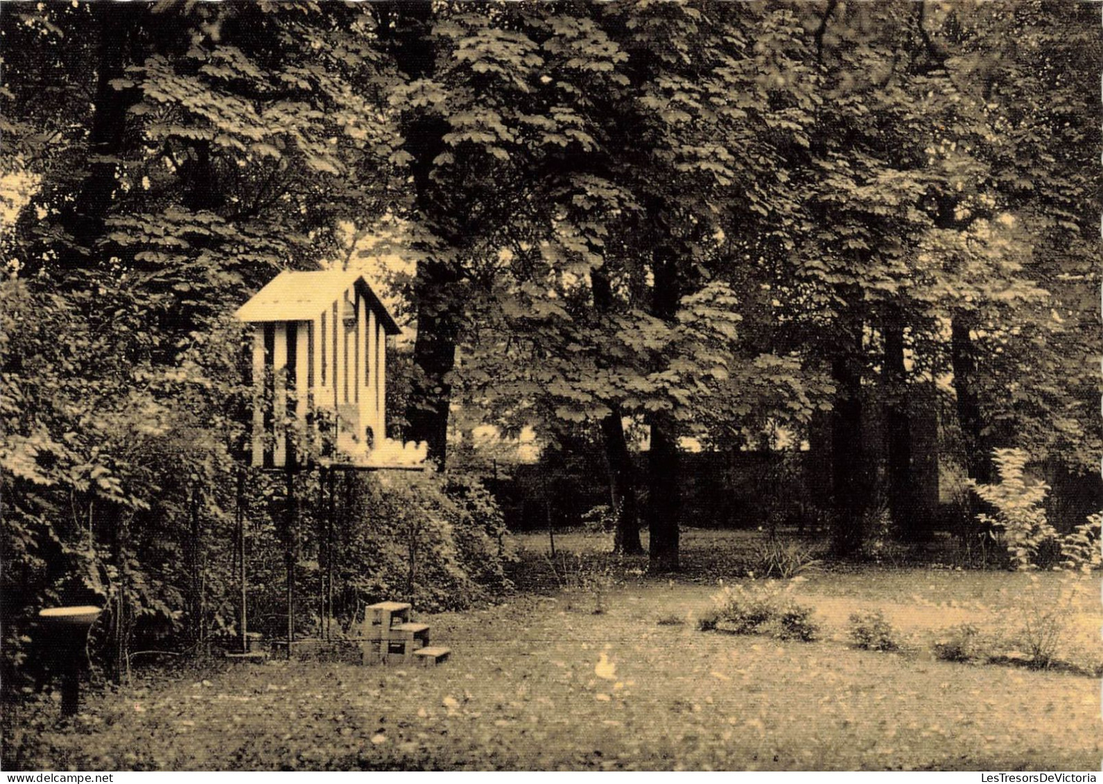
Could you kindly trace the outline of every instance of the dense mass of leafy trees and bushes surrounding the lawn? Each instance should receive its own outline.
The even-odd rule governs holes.
[[[1095,22],[1041,0],[6,4],[6,683],[44,604],[109,608],[117,670],[135,635],[231,633],[239,508],[260,626],[283,573],[303,608],[340,584],[325,612],[346,623],[384,594],[505,587],[474,480],[349,480],[334,549],[319,476],[289,530],[282,480],[239,473],[229,314],[280,269],[355,264],[373,232],[417,262],[392,356],[405,434],[440,468],[458,406],[599,443],[617,547],[646,517],[656,570],[679,566],[688,438],[795,445],[826,421],[840,554],[879,495],[895,533],[930,538],[920,409],[979,486],[995,447],[1082,470]],[[875,419],[882,457],[856,437]]]

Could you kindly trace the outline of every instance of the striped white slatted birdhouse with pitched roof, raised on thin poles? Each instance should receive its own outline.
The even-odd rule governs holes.
[[[342,453],[387,444],[387,335],[400,330],[360,272],[280,272],[237,318],[253,324],[253,465],[303,462],[311,414],[334,419]]]

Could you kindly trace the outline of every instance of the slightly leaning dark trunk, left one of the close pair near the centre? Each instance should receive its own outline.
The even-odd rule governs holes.
[[[593,289],[593,308],[600,314],[610,313],[613,309],[612,286],[604,270],[590,272],[590,283]],[[624,423],[620,406],[611,406],[612,410],[601,420],[601,436],[606,447],[606,462],[609,464],[609,484],[613,496],[613,509],[617,515],[617,529],[613,533],[613,552],[640,555],[643,545],[640,544],[640,511],[636,500],[635,465],[628,451],[624,439]]]

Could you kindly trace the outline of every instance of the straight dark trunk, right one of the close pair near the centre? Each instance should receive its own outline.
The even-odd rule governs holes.
[[[672,323],[681,301],[677,258],[670,245],[661,243],[653,251],[652,315]],[[678,531],[682,517],[682,475],[678,455],[677,420],[670,410],[654,411],[651,450],[647,453],[647,529],[651,535],[652,571],[678,568]]]

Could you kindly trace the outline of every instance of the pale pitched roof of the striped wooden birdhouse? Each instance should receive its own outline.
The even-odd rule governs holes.
[[[285,270],[260,289],[235,314],[240,321],[310,321],[333,304],[349,287],[364,294],[388,335],[401,332],[364,276],[353,270],[326,269],[313,272]]]

